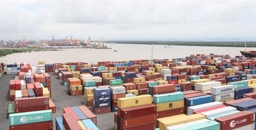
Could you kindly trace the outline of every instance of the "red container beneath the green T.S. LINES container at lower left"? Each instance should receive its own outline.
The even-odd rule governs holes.
[[[9,130],[52,130],[52,121],[9,126]]]

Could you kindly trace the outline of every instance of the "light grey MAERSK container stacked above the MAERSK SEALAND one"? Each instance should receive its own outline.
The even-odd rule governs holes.
[[[219,95],[219,94],[225,94],[225,93],[230,93],[235,91],[235,86],[234,85],[224,85],[224,86],[217,86],[217,87],[212,87],[211,89],[211,94],[212,95]]]

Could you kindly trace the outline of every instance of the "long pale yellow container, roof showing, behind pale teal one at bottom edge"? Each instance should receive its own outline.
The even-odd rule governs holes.
[[[175,118],[172,118],[172,116],[170,116],[168,119],[164,119],[162,121],[159,122],[159,128],[160,130],[165,130],[166,127],[172,126],[172,125],[177,125],[177,124],[182,124],[182,123],[186,123],[186,122],[193,122],[199,119],[205,119],[206,117],[202,114],[193,114],[193,115],[189,115],[186,117],[179,117],[176,116]],[[157,119],[158,120],[158,119]]]

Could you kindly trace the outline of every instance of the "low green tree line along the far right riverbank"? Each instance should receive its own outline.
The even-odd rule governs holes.
[[[151,44],[150,41],[111,41],[121,44]],[[240,41],[154,41],[153,44],[177,46],[244,47]],[[256,42],[246,42],[247,47],[256,47]]]

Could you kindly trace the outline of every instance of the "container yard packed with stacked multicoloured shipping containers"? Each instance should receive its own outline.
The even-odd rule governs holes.
[[[256,130],[256,58],[7,65],[3,130]]]

